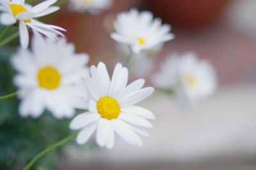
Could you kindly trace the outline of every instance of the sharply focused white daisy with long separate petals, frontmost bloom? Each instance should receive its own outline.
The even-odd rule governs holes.
[[[134,104],[151,95],[154,88],[142,88],[145,82],[143,79],[127,86],[127,79],[128,70],[120,63],[115,66],[111,80],[104,63],[99,63],[97,68],[91,67],[91,77],[88,75],[83,85],[89,95],[81,98],[77,104],[81,109],[88,109],[88,112],[77,115],[70,122],[72,130],[81,129],[76,138],[78,144],[86,143],[96,130],[99,146],[112,148],[115,133],[130,144],[142,146],[138,134],[147,136],[144,127],[152,127],[145,118],[155,117],[152,112]]]

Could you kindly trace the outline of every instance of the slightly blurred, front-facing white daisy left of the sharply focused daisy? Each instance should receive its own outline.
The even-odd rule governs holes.
[[[65,38],[54,42],[35,37],[31,49],[19,49],[11,59],[17,70],[13,83],[20,91],[20,116],[38,118],[44,109],[56,118],[74,116],[74,82],[88,72],[88,55],[75,54]]]

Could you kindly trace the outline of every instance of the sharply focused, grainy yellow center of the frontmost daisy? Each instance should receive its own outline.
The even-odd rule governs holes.
[[[121,107],[114,98],[102,97],[97,102],[97,111],[102,118],[112,120],[118,117]]]

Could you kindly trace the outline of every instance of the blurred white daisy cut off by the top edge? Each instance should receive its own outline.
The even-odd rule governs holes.
[[[70,0],[71,10],[77,12],[90,12],[99,14],[102,10],[110,8],[113,0]]]

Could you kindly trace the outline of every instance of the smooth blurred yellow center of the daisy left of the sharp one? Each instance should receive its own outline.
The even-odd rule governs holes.
[[[37,79],[41,88],[55,89],[60,84],[61,75],[52,66],[45,66],[38,71]]]

